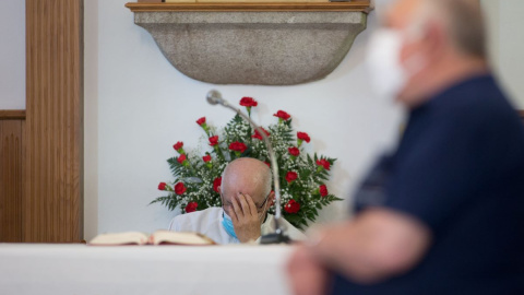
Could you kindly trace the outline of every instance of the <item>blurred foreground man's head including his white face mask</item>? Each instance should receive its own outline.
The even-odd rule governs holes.
[[[487,71],[477,0],[394,1],[382,21],[369,46],[371,82],[408,108],[466,75]]]

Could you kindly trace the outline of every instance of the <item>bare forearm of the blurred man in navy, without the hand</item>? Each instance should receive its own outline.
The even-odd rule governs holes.
[[[429,231],[388,211],[365,212],[354,221],[327,228],[311,247],[329,269],[360,283],[373,283],[418,262],[429,247]]]

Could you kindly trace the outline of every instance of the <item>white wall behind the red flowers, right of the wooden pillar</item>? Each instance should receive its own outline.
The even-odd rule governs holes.
[[[274,121],[277,109],[291,114],[295,128],[311,135],[312,151],[338,158],[329,189],[342,198],[378,148],[396,133],[398,113],[371,97],[362,69],[365,44],[377,26],[374,12],[346,59],[322,81],[224,86],[191,80],[171,67],[151,35],[134,25],[126,2],[85,2],[87,239],[96,233],[167,226],[175,213],[147,203],[162,196],[159,181],[172,179],[166,163],[175,154],[171,145],[183,141],[195,148],[202,133],[194,121],[202,116],[215,126],[233,117],[207,105],[204,96],[211,88],[230,102],[253,96],[260,103],[254,119],[264,125]],[[98,20],[97,34],[93,19]],[[320,220],[340,219],[345,211],[343,203],[332,205]]]

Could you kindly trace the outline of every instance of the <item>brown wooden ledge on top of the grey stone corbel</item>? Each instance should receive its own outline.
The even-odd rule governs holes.
[[[132,12],[178,11],[356,11],[369,13],[370,1],[352,2],[198,2],[198,3],[136,3],[126,4]]]

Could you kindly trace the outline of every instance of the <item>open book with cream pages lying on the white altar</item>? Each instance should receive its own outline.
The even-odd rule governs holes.
[[[156,231],[151,235],[140,232],[102,234],[90,240],[91,246],[119,245],[216,245],[211,238],[198,233]]]

